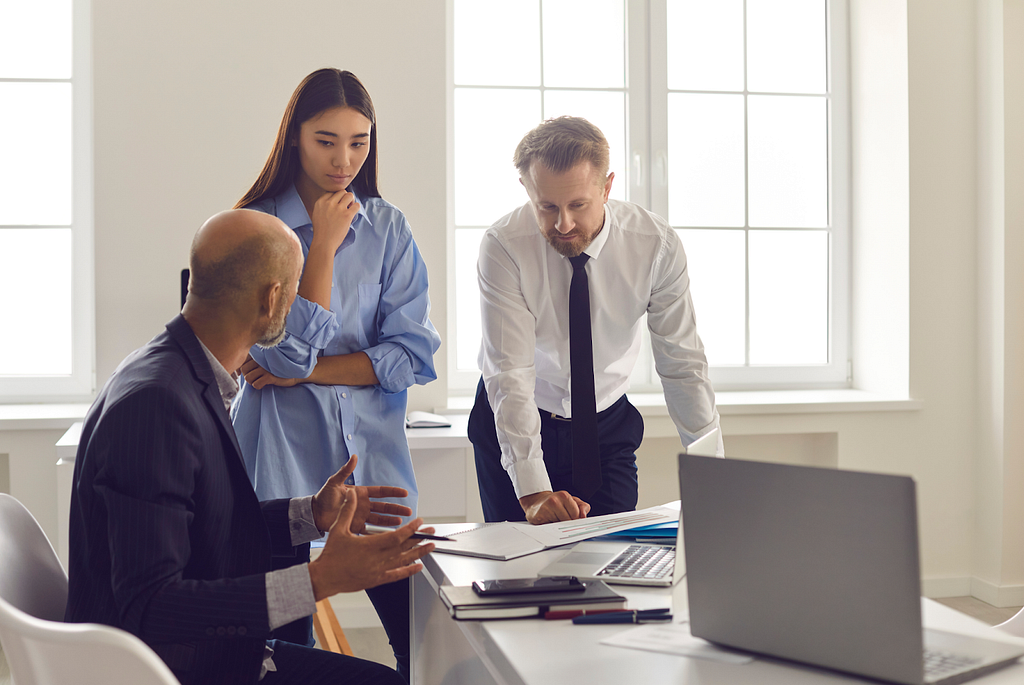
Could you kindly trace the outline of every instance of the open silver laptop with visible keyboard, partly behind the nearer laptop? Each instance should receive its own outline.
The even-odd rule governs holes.
[[[685,454],[714,457],[718,449],[718,432],[719,429],[716,428],[701,435],[685,447]],[[683,525],[680,521],[675,545],[669,542],[664,545],[581,543],[561,559],[542,568],[540,575],[575,575],[581,580],[598,580],[620,585],[672,587],[685,574],[685,565],[677,561],[676,552],[682,549],[682,534]]]

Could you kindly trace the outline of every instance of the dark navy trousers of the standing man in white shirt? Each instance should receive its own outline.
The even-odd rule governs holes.
[[[541,449],[551,487],[580,497],[591,506],[592,516],[633,511],[637,506],[638,488],[636,451],[643,439],[643,418],[623,395],[614,404],[598,413],[597,432],[601,445],[601,487],[591,497],[584,498],[572,487],[572,423],[541,412]],[[512,480],[502,467],[495,415],[482,379],[476,386],[476,402],[469,415],[469,440],[476,459],[484,520],[526,520]]]

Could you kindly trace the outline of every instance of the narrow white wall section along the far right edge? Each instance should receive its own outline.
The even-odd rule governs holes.
[[[1024,2],[979,2],[975,594],[1024,601]],[[1008,591],[1008,588],[1011,590]],[[991,600],[989,600],[991,601]]]

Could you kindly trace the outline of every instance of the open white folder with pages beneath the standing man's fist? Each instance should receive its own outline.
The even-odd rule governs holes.
[[[678,520],[678,507],[662,506],[542,525],[508,521],[482,525],[441,524],[434,527],[439,534],[447,536],[453,541],[435,543],[434,551],[507,561],[552,547],[606,536],[616,530]]]

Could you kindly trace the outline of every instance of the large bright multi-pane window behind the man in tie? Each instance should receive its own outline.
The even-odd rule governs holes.
[[[717,388],[848,385],[845,13],[826,0],[455,0],[453,391],[478,376],[479,241],[526,201],[515,144],[560,114],[604,131],[612,197],[682,238]],[[658,389],[648,352],[633,390]]]

